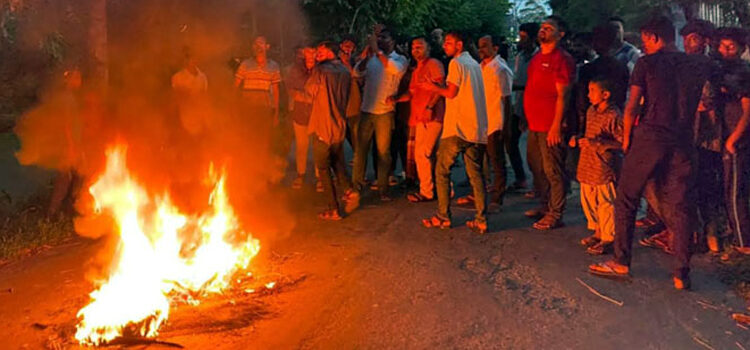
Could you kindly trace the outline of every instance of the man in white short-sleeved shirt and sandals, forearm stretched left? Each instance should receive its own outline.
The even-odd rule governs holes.
[[[466,44],[466,45],[464,45]],[[487,232],[487,200],[482,173],[484,152],[487,148],[487,105],[484,97],[482,68],[464,50],[469,41],[458,32],[445,36],[443,49],[453,57],[448,65],[446,87],[431,82],[421,86],[446,98],[443,134],[438,148],[435,180],[438,213],[422,220],[425,227],[450,228],[450,174],[459,153],[464,155],[466,174],[474,193],[476,215],[466,226],[484,234]]]

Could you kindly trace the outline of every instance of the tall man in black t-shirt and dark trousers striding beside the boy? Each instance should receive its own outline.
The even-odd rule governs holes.
[[[624,277],[630,273],[635,215],[643,188],[651,179],[662,184],[662,214],[674,233],[677,289],[690,288],[690,238],[693,232],[693,122],[708,70],[678,52],[675,30],[666,17],[641,27],[647,56],[633,69],[625,109],[623,150],[626,152],[615,200],[615,256],[589,266],[596,275]],[[636,125],[641,98],[645,110]]]

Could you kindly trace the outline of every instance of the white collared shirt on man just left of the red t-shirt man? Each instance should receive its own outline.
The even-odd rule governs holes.
[[[508,63],[497,55],[487,64],[482,63],[482,80],[487,101],[487,134],[492,135],[503,129],[503,121],[507,117],[503,99],[512,94],[513,72]]]

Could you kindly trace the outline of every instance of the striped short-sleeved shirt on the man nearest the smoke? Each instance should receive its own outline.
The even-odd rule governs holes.
[[[281,70],[278,63],[269,59],[263,67],[260,67],[255,59],[249,58],[242,61],[235,77],[241,80],[240,89],[247,102],[275,107],[271,104],[273,101],[271,88],[274,84],[281,83]]]

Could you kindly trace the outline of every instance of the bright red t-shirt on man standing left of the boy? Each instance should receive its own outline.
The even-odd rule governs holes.
[[[529,62],[523,106],[529,130],[547,132],[555,119],[557,88],[555,84],[572,84],[575,60],[557,48],[548,54],[538,52]]]

